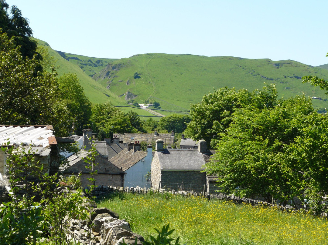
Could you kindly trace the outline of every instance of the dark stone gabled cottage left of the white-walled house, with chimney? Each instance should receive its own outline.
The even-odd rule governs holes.
[[[85,149],[81,149],[77,155],[72,155],[68,158],[68,165],[61,167],[61,172],[63,176],[71,176],[72,174],[77,176],[81,172],[81,182],[82,186],[85,187],[89,183],[87,178],[90,178],[90,170],[86,169],[86,166],[89,165],[84,161],[89,153],[88,150],[91,149],[91,138],[92,131],[91,129],[83,130],[83,145]],[[116,167],[112,162],[110,162],[107,157],[101,155],[98,152],[98,156],[95,158],[95,162],[98,163],[94,170],[97,170],[97,174],[93,176],[95,179],[95,185],[113,185],[124,187],[124,177],[125,172],[120,168]]]

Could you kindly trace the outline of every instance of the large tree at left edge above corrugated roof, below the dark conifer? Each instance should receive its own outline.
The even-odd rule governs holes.
[[[56,72],[34,75],[39,62],[24,58],[13,37],[0,34],[0,113],[2,124],[47,124],[59,89]]]

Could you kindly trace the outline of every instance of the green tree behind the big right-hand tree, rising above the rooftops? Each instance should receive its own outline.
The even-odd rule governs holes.
[[[232,122],[232,114],[241,107],[271,108],[275,105],[277,91],[275,85],[267,85],[262,90],[248,92],[236,91],[228,87],[206,94],[198,104],[192,104],[190,116],[184,134],[193,140],[204,139],[214,147]]]

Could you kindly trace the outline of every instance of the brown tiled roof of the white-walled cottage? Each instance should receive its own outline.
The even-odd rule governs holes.
[[[145,151],[133,152],[133,149],[130,151],[125,149],[112,157],[110,161],[118,168],[122,168],[123,171],[126,171],[146,156],[147,152]]]

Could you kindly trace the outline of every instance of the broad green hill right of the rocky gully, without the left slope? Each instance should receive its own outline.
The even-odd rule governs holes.
[[[135,72],[140,78],[133,78]],[[316,107],[327,107],[324,91],[302,84],[301,77],[317,75],[328,79],[328,71],[292,60],[243,59],[148,53],[114,60],[93,76],[104,87],[121,98],[128,94],[138,103],[157,100],[167,110],[188,110],[213,88],[236,87],[250,91],[264,83],[275,83],[279,98],[304,93]],[[127,98],[128,99],[128,98]]]

